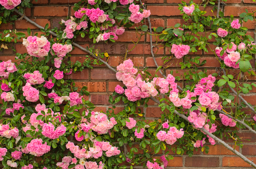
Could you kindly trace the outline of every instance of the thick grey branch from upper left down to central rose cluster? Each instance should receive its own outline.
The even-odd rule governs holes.
[[[23,14],[20,13],[17,9],[14,9],[14,11],[15,11],[16,13],[18,13],[19,15],[21,15],[21,16],[23,15]],[[30,22],[31,24],[35,25],[36,27],[38,27],[38,28],[40,28],[40,29],[44,29],[43,26],[38,25],[37,23],[35,23],[35,22],[32,21],[31,19],[29,19],[27,16],[24,15],[23,18],[24,18],[26,21]],[[52,34],[53,36],[57,36],[57,34],[54,33],[54,32],[52,32],[52,31],[49,31],[49,33]],[[87,49],[81,47],[80,45],[78,45],[78,44],[75,43],[75,42],[72,42],[72,45],[74,45],[74,46],[78,47],[79,49],[81,49],[81,50],[83,50],[83,51],[89,53],[93,58],[99,59],[101,62],[103,62],[109,69],[111,69],[111,70],[114,71],[114,72],[117,72],[117,71],[116,71],[114,68],[112,68],[107,62],[105,62],[104,60],[98,58],[97,56],[95,56],[95,55],[94,55],[92,52],[90,52],[89,50],[87,50]]]

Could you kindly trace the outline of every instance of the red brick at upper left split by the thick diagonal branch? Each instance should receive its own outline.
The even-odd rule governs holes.
[[[35,23],[40,26],[45,26],[47,23],[49,24],[49,28],[51,28],[51,22],[48,19],[36,19]],[[37,26],[27,22],[26,20],[15,21],[15,28],[16,29],[39,29]]]

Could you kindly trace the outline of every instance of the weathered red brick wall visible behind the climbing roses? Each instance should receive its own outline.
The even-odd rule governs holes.
[[[189,0],[185,0],[189,2]],[[196,3],[201,2],[202,0],[195,0]],[[66,19],[67,16],[73,15],[73,7],[71,4],[78,2],[78,0],[38,0],[37,2],[33,2],[34,6],[31,9],[26,9],[25,14],[30,19],[35,21],[37,24],[41,26],[45,26],[46,23],[49,24],[49,27],[54,28],[58,27],[58,22],[61,19]],[[146,0],[145,3],[147,5],[147,9],[151,10],[151,23],[152,27],[167,27],[174,26],[178,23],[185,23],[182,20],[182,16],[180,11],[178,10],[178,3],[181,0]],[[252,0],[227,0],[225,2],[225,6],[222,6],[222,11],[225,16],[234,15],[235,17],[239,16],[240,13],[245,12],[245,9],[250,11],[256,10],[256,3]],[[211,13],[212,7],[207,7],[207,15],[213,15]],[[214,11],[216,15],[216,10]],[[254,21],[248,21],[247,23],[243,23],[243,26],[248,27],[248,34],[253,36],[253,31],[255,28]],[[32,31],[32,35],[35,33],[40,33],[40,29],[35,27],[34,25],[26,22],[25,20],[15,21],[13,25],[10,24],[1,24],[0,32],[3,29],[16,29],[19,32],[23,32],[27,35],[26,29],[30,27]],[[126,49],[131,49],[133,47],[132,41],[137,40],[137,36],[135,33],[135,29],[129,28],[127,31],[119,36],[119,39],[116,40],[116,43],[99,43],[96,44],[95,47],[99,48],[101,51],[108,51],[110,58],[108,63],[111,66],[116,67],[119,63],[122,63]],[[153,39],[153,41],[155,41]],[[210,40],[210,41],[213,41]],[[76,42],[83,47],[92,47],[94,44],[88,38],[77,38]],[[212,48],[215,48],[214,45],[210,45]],[[163,56],[168,55],[169,48],[161,48],[163,46],[159,46],[160,49],[154,48],[154,52],[156,53],[156,60],[158,65],[162,65],[163,61],[161,60]],[[25,53],[26,49],[22,45],[22,40],[20,40],[17,44],[10,44],[8,50],[4,50],[0,52],[0,60],[6,61],[8,59],[14,60],[15,53],[12,50],[15,49],[19,53]],[[75,47],[75,50],[71,52],[72,56],[70,58],[71,61],[75,62],[77,60],[83,61],[85,59],[86,52],[81,51]],[[205,53],[203,51],[198,50],[197,53],[190,53],[191,56],[200,56],[201,60],[207,60],[207,63],[204,67],[207,67],[209,73],[214,73],[216,68],[219,69],[220,64],[215,60],[213,53],[209,51],[209,53]],[[150,54],[150,45],[149,45],[149,36],[143,36],[135,47],[135,49],[128,53],[128,58],[132,59],[135,66],[139,67],[149,67],[149,72],[154,73],[156,70],[153,58]],[[182,59],[173,59],[173,63],[169,68],[166,69],[166,74],[168,74],[171,70],[174,70],[174,76],[178,76],[183,73],[183,70],[179,70],[176,67],[176,63],[181,62]],[[254,67],[254,63],[252,64]],[[202,68],[203,69],[203,68]],[[176,72],[178,70],[178,72]],[[231,70],[232,72],[232,70]],[[233,71],[233,74],[236,74],[236,71]],[[158,75],[161,76],[158,72]],[[78,72],[77,74],[71,74],[66,77],[75,80],[77,86],[88,86],[88,91],[90,92],[90,96],[84,96],[84,98],[89,99],[93,104],[97,105],[96,110],[106,111],[108,108],[112,108],[112,105],[109,104],[108,98],[109,95],[114,91],[114,87],[119,84],[122,85],[121,82],[117,81],[115,78],[114,72],[109,70],[104,65],[95,66],[93,69],[85,69],[82,72]],[[255,76],[247,76],[248,82],[255,81]],[[180,86],[186,85],[178,82]],[[256,92],[255,88],[253,92]],[[256,104],[256,96],[254,94],[247,94],[244,96],[246,99],[250,99],[250,103]],[[148,102],[147,108],[141,108],[145,113],[145,117],[148,119],[160,117],[160,108],[150,100]],[[116,105],[114,111],[119,112],[122,110],[121,105]],[[240,153],[245,155],[251,160],[256,160],[256,135],[248,133],[244,130],[239,130],[239,135],[242,137],[244,142],[243,148],[236,146],[236,150],[239,150]],[[248,141],[250,140],[250,141]],[[226,140],[225,140],[226,141]],[[229,140],[230,145],[233,145],[233,141]],[[202,153],[200,150],[198,152],[194,152],[193,157],[188,157],[188,155],[175,155],[173,160],[169,161],[168,166],[171,168],[179,168],[179,169],[196,169],[198,167],[201,168],[247,168],[250,167],[246,162],[244,162],[239,157],[235,156],[232,152],[227,150],[224,146],[220,144],[216,144],[215,146],[209,145],[209,153]],[[157,157],[156,157],[157,158]]]

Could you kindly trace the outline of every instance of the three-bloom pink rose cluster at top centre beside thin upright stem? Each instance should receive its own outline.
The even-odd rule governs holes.
[[[130,20],[134,23],[140,23],[143,18],[147,18],[151,13],[150,10],[143,10],[143,13],[139,12],[140,5],[131,4],[129,11],[132,13]]]

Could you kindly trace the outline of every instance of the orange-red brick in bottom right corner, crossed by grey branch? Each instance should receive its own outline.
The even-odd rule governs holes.
[[[256,160],[255,157],[248,158],[249,160]],[[240,157],[223,157],[222,167],[252,167]]]

